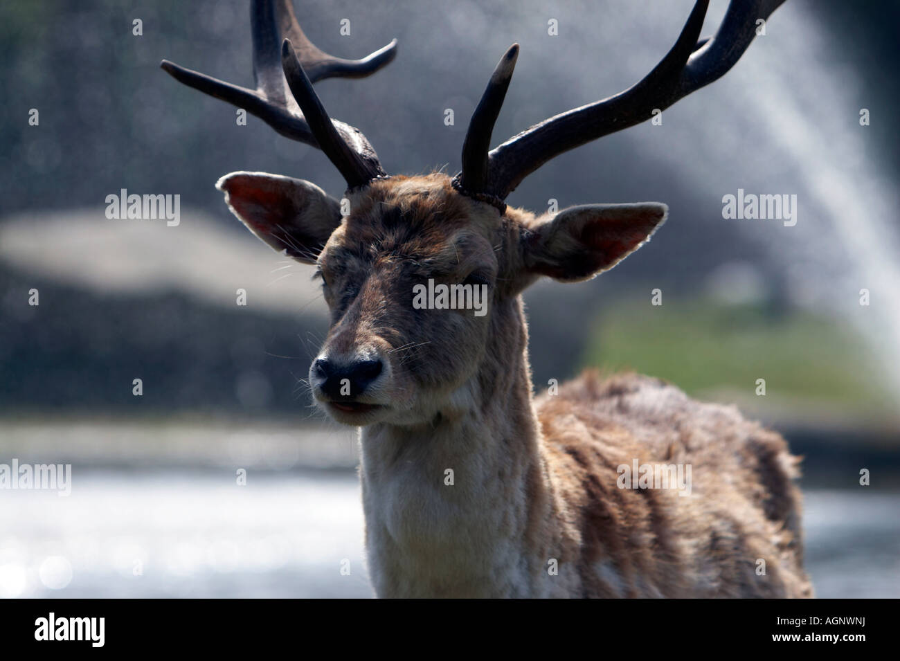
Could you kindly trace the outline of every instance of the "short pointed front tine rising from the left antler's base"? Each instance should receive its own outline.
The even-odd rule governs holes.
[[[344,175],[347,187],[353,189],[365,186],[375,177],[383,176],[384,170],[378,163],[377,157],[374,156],[374,151],[371,152],[372,157],[366,159],[365,149],[362,154],[357,151],[364,146],[357,144],[354,148],[352,138],[361,138],[365,141],[362,134],[356,131],[356,136],[348,137],[350,138],[348,140],[332,123],[318,94],[312,89],[312,82],[303,69],[300,58],[297,57],[289,39],[285,39],[282,43],[282,67],[284,67],[284,76],[291,88],[293,98],[300,104],[312,135],[315,136],[320,149],[325,152],[325,156],[328,156],[340,174]],[[366,142],[365,146],[367,145]]]

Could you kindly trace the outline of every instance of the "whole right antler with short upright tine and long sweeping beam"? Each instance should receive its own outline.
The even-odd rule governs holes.
[[[491,130],[518,53],[514,45],[500,60],[473,114],[464,143],[463,171],[454,185],[502,206],[528,174],[554,156],[648,120],[653,109],[664,110],[725,75],[756,36],[757,20],[767,19],[784,1],[731,0],[716,37],[698,41],[709,6],[709,0],[698,0],[675,45],[637,85],[542,121],[489,153]]]

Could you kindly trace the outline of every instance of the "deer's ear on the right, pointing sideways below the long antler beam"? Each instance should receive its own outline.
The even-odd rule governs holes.
[[[592,278],[641,247],[668,212],[658,202],[588,204],[537,219],[522,237],[526,269],[563,282]]]

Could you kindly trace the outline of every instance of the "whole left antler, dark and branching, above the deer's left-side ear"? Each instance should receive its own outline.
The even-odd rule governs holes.
[[[316,48],[303,33],[291,0],[253,0],[250,23],[255,90],[225,83],[165,59],[160,66],[180,83],[256,115],[285,138],[321,148],[347,179],[348,188],[384,176],[369,141],[355,127],[329,119],[312,83],[329,77],[362,78],[373,74],[397,55],[397,40],[363,59],[335,58]],[[302,90],[302,100],[294,97],[298,90]]]

